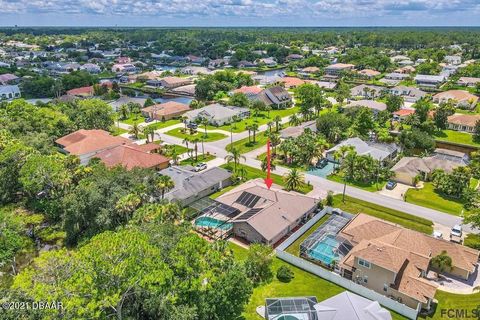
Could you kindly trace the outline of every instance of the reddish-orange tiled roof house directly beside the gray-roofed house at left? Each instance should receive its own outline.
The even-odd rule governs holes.
[[[107,167],[120,165],[127,170],[133,168],[162,170],[170,165],[170,159],[152,152],[159,148],[159,145],[153,143],[147,145],[122,144],[100,151],[94,158],[100,159]]]

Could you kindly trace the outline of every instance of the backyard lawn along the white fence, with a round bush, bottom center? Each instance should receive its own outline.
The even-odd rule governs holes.
[[[237,260],[243,261],[247,257],[247,249],[237,246],[229,242],[229,247]],[[344,288],[336,284],[324,280],[316,275],[308,273],[302,269],[292,266],[278,258],[273,261],[273,273],[282,265],[287,265],[294,273],[294,278],[289,283],[283,283],[277,280],[276,277],[270,283],[262,284],[253,290],[250,301],[245,307],[243,317],[245,320],[261,320],[256,308],[265,305],[266,298],[280,298],[280,297],[302,297],[315,296],[318,301],[328,299],[343,291]],[[399,314],[392,312],[392,317],[395,320],[405,319]]]

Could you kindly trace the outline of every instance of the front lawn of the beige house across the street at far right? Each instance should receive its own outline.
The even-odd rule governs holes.
[[[458,199],[440,195],[435,192],[431,182],[425,182],[421,189],[408,189],[407,202],[459,216],[463,210],[463,202]]]

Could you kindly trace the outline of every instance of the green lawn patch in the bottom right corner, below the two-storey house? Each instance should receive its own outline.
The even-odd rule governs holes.
[[[437,290],[435,299],[438,300],[438,305],[435,310],[435,313],[432,316],[426,317],[426,319],[458,319],[455,316],[448,318],[446,315],[442,316],[441,309],[460,309],[460,310],[469,310],[471,316],[471,310],[477,310],[480,305],[480,293],[474,294],[453,294],[445,291]],[[421,318],[419,318],[421,319]],[[462,317],[461,319],[467,319]],[[476,317],[471,317],[471,319],[477,319]]]

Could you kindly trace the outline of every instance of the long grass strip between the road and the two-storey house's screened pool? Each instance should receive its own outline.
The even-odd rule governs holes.
[[[345,196],[345,203],[343,203],[341,194],[337,194],[333,198],[332,207],[340,208],[346,212],[353,214],[365,213],[426,234],[432,234],[433,232],[433,222],[430,220],[349,196]]]

